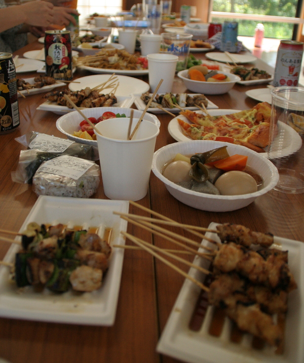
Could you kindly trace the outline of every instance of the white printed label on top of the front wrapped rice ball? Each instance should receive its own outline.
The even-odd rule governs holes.
[[[62,155],[44,162],[38,171],[78,180],[92,165],[93,162],[90,160]]]

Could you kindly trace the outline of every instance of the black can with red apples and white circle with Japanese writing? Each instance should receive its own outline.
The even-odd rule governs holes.
[[[72,79],[72,46],[68,30],[47,30],[45,34],[46,74],[56,80]]]

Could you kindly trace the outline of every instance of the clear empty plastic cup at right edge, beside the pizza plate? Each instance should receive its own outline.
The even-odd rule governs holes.
[[[275,190],[304,193],[304,88],[276,87],[271,90],[272,110],[268,158],[279,171]]]

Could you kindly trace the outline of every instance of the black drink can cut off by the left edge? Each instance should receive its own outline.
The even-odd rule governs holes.
[[[11,53],[0,53],[0,134],[20,124],[16,69]]]

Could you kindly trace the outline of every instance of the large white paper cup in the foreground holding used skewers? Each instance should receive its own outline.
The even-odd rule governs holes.
[[[156,138],[160,132],[151,121],[142,120],[132,140],[127,140],[129,117],[96,124],[103,189],[109,199],[138,201],[149,185]],[[132,130],[138,118],[133,118]]]

